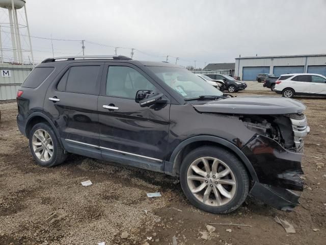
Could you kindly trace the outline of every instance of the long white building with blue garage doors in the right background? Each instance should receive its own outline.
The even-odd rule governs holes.
[[[326,76],[326,54],[235,58],[235,76],[242,80],[256,80],[257,75],[262,73],[276,76],[315,73]]]

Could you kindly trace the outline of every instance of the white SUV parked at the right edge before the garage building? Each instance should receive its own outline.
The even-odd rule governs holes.
[[[275,83],[275,92],[283,97],[294,95],[326,96],[326,77],[320,74],[284,74]]]

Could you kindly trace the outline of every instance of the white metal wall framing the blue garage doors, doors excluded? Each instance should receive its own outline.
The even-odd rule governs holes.
[[[309,65],[326,65],[325,56],[307,56],[307,57],[268,57],[268,58],[249,58],[235,59],[235,76],[242,79],[243,67],[269,66],[269,73],[273,73],[274,66],[305,66],[305,72]]]

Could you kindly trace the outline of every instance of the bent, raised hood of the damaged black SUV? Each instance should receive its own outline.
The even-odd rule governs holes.
[[[238,96],[193,106],[200,112],[227,114],[290,114],[306,110],[297,100],[274,96]]]

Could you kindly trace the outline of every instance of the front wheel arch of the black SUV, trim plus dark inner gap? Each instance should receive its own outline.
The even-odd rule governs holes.
[[[239,160],[243,163],[244,167],[248,170],[248,173],[250,174],[251,178],[254,181],[258,181],[258,177],[256,174],[256,171],[254,167],[252,166],[249,159],[244,155],[244,153],[233,143],[216,137],[216,136],[210,136],[210,135],[201,135],[201,136],[194,136],[191,138],[188,138],[184,141],[182,141],[173,151],[170,160],[169,160],[169,170],[166,171],[166,174],[170,174],[172,176],[177,176],[179,174],[179,169],[182,163],[182,160],[184,156],[194,150],[195,148],[198,148],[202,145],[212,145],[212,146],[219,146],[221,148],[224,148],[230,152],[232,152],[236,157],[239,158]],[[166,167],[165,167],[166,168]],[[168,173],[167,173],[168,172]]]

